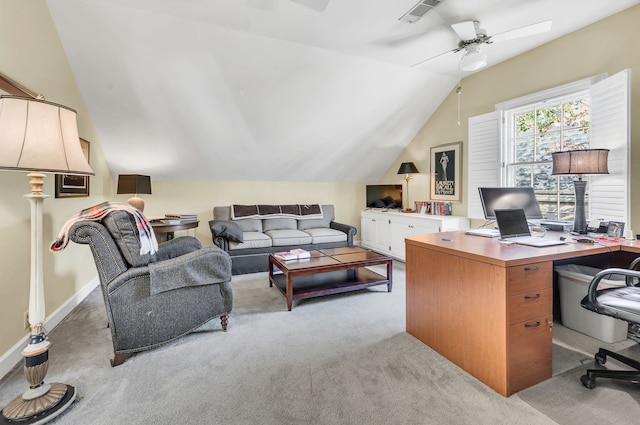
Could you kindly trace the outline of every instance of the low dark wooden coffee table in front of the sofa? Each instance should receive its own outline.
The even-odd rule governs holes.
[[[289,261],[269,255],[269,286],[275,285],[282,292],[289,311],[293,300],[376,285],[387,285],[387,292],[391,292],[391,258],[385,255],[358,246],[320,249],[310,253],[311,258]],[[387,266],[386,277],[366,268],[380,264]]]

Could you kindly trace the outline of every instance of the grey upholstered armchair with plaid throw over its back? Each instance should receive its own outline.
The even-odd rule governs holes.
[[[231,312],[231,258],[218,247],[202,248],[191,236],[140,255],[135,220],[113,211],[100,222],[80,221],[69,239],[91,247],[111,329],[114,358],[155,348]]]

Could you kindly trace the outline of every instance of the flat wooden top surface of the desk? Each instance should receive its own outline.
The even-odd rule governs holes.
[[[464,231],[429,233],[405,240],[408,245],[428,244],[430,249],[451,255],[461,255],[501,267],[529,264],[531,262],[555,261],[567,258],[604,254],[615,251],[640,253],[640,241],[625,239],[597,240],[595,243],[577,243],[566,232],[547,232],[547,238],[566,237],[566,245],[532,247],[505,245],[498,238],[467,235]]]

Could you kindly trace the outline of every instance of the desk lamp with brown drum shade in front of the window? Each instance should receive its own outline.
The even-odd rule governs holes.
[[[580,234],[587,233],[587,219],[584,211],[584,194],[587,182],[582,180],[585,174],[609,174],[607,161],[608,149],[584,149],[551,154],[553,161],[553,175],[574,174],[578,180],[573,181],[576,194],[576,208],[573,219],[573,231]]]

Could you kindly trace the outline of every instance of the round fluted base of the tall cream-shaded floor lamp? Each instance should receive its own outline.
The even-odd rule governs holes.
[[[14,398],[2,410],[0,424],[44,424],[64,412],[76,399],[76,389],[71,385],[53,383],[40,397],[25,400],[23,395]]]

